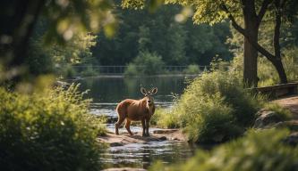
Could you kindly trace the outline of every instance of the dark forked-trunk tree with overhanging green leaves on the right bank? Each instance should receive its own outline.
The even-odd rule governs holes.
[[[209,0],[195,2],[191,0],[167,0],[166,3],[192,6],[196,9],[193,16],[195,23],[207,22],[214,24],[221,20],[229,19],[232,22],[232,26],[244,36],[243,79],[248,85],[256,86],[258,84],[258,52],[266,56],[276,67],[280,82],[287,82],[280,56],[279,29],[283,12],[285,14],[285,8],[295,4],[294,0],[221,0],[219,2]],[[269,53],[258,43],[260,23],[266,12],[275,12],[275,54]],[[243,21],[243,26],[239,21]]]

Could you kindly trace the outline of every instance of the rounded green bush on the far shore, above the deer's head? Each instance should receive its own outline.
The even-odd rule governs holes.
[[[164,71],[164,61],[162,61],[161,56],[157,53],[149,53],[148,51],[140,52],[128,66],[125,70],[126,76],[156,75]]]

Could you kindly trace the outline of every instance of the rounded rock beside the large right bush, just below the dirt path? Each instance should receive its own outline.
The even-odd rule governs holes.
[[[277,112],[271,110],[260,110],[258,111],[257,116],[259,117],[255,120],[253,126],[256,128],[265,128],[282,121]]]

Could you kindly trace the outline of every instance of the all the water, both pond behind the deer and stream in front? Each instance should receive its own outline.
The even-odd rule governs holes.
[[[89,89],[86,98],[92,98],[91,113],[112,118],[106,124],[109,131],[114,132],[113,120],[117,118],[115,106],[123,99],[140,99],[140,86],[158,87],[155,96],[157,106],[170,108],[175,95],[183,93],[188,77],[88,77],[77,82],[81,83],[81,91]],[[132,132],[140,132],[140,126],[131,126]],[[152,132],[154,129],[149,128]],[[126,133],[121,128],[120,134]],[[183,161],[193,155],[193,148],[187,142],[164,141],[148,143],[132,143],[119,147],[110,147],[102,156],[105,168],[109,167],[149,167],[154,160],[164,163]]]

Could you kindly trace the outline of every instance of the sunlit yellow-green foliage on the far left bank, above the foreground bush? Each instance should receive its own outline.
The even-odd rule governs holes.
[[[64,45],[52,42],[45,46],[43,44],[46,27],[47,23],[44,20],[38,20],[38,25],[30,40],[30,53],[26,59],[30,73],[39,75],[54,72],[58,76],[74,77],[79,72],[72,69],[73,64],[88,65],[87,68],[80,70],[83,76],[97,73],[90,66],[97,63],[90,52],[90,47],[96,45],[96,36],[78,34]]]

